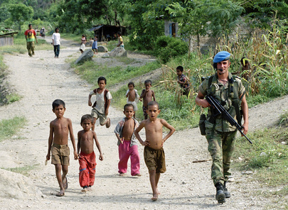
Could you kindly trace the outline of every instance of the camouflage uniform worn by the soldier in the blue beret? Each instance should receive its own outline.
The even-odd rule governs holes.
[[[225,85],[218,82],[217,74],[211,76],[213,77],[211,82],[211,88],[208,88],[209,77],[203,80],[199,87],[199,91],[205,96],[210,93],[215,97],[220,104],[229,112],[231,116],[236,119],[236,111],[232,102],[232,95],[230,93],[229,82]],[[228,79],[231,79],[232,74],[229,72]],[[245,87],[243,86],[241,79],[239,77],[233,77],[233,89],[238,92],[238,97],[240,97],[245,92]],[[221,118],[221,115],[215,118],[214,123],[210,123],[209,119],[211,116],[211,109],[208,109],[207,120],[205,121],[206,127],[206,139],[208,141],[208,151],[213,159],[211,167],[211,178],[213,179],[214,185],[220,182],[224,184],[228,180],[230,173],[230,162],[235,148],[235,136],[237,128],[231,126],[228,121]]]

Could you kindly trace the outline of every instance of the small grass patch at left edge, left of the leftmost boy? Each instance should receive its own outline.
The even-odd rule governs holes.
[[[11,138],[19,129],[26,125],[26,118],[15,116],[11,119],[3,119],[0,121],[0,142]]]

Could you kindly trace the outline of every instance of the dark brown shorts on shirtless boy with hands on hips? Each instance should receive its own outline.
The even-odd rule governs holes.
[[[146,146],[144,148],[144,161],[148,170],[156,170],[156,173],[166,172],[164,149],[154,150]]]

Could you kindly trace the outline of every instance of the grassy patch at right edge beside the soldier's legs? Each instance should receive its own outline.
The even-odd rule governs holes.
[[[233,167],[238,170],[252,170],[258,182],[270,187],[284,186],[280,191],[266,191],[265,195],[288,195],[288,112],[279,118],[279,125],[274,128],[248,134],[253,141],[250,145],[245,140],[238,140]],[[239,162],[238,157],[242,158]],[[286,185],[286,187],[285,187]]]

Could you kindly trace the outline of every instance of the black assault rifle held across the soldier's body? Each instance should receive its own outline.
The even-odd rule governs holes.
[[[211,117],[215,117],[218,116],[219,114],[222,114],[223,119],[228,121],[231,124],[231,126],[236,126],[236,128],[242,134],[242,136],[245,136],[245,138],[252,144],[252,141],[249,138],[247,138],[247,136],[242,132],[243,126],[240,126],[234,120],[234,118],[228,113],[228,111],[226,111],[226,109],[224,109],[224,107],[219,103],[219,101],[214,99],[213,96],[206,96],[206,100],[214,109],[213,112],[215,112],[215,114],[213,114],[213,116]]]

